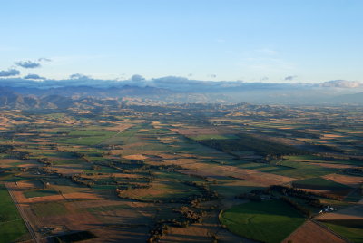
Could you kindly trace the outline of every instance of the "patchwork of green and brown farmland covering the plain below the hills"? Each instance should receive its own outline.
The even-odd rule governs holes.
[[[361,242],[357,109],[4,110],[0,185],[34,234],[3,187],[1,238],[280,242],[320,230],[321,240]]]

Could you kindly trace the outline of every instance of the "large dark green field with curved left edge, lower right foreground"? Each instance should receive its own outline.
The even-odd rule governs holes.
[[[304,222],[300,213],[280,200],[248,202],[221,212],[220,221],[245,238],[278,243]]]

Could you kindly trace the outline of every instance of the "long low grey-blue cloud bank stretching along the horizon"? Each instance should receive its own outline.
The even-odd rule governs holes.
[[[201,81],[186,77],[166,76],[146,80],[142,75],[135,74],[130,79],[94,79],[82,73],[74,73],[67,79],[46,79],[38,74],[27,74],[23,78],[15,77],[20,72],[11,69],[0,71],[0,87],[25,87],[37,89],[50,89],[60,87],[93,87],[103,89],[122,88],[126,86],[153,87],[173,92],[190,93],[223,93],[244,92],[282,92],[282,91],[326,91],[333,92],[363,92],[363,84],[355,81],[333,80],[324,83],[248,83],[243,81]]]

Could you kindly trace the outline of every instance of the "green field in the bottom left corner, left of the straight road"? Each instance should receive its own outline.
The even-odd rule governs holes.
[[[28,230],[20,217],[13,200],[0,184],[0,243],[14,242],[18,238],[26,238]]]

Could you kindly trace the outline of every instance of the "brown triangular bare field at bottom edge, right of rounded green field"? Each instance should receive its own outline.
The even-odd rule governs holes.
[[[345,240],[331,233],[328,229],[319,226],[311,220],[307,220],[302,226],[296,229],[282,243],[346,243]]]

